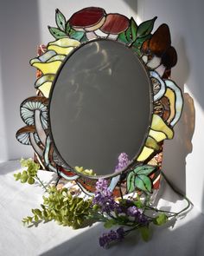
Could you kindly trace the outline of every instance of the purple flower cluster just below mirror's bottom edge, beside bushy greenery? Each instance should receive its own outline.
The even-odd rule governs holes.
[[[96,191],[92,204],[98,205],[103,213],[111,213],[114,210],[118,210],[119,212],[120,210],[112,192],[108,189],[108,182],[105,179],[99,179],[96,182]]]

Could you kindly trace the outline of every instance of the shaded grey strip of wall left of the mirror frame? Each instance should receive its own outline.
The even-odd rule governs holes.
[[[35,70],[29,67],[29,59],[36,55],[40,43],[38,1],[3,1],[0,8],[3,116],[7,159],[27,156],[32,152],[16,141],[16,130],[25,124],[19,108],[29,95],[35,95]],[[3,129],[3,128],[0,128]],[[3,149],[6,150],[6,149]]]

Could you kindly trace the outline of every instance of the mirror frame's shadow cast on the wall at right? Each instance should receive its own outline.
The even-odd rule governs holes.
[[[182,89],[183,110],[182,117],[175,125],[175,138],[164,143],[163,171],[173,181],[182,193],[186,192],[186,157],[193,150],[192,137],[194,135],[195,109],[193,98],[184,93],[184,86],[188,80],[190,66],[185,43],[181,38],[175,46],[178,53],[178,63],[173,69],[176,83]]]

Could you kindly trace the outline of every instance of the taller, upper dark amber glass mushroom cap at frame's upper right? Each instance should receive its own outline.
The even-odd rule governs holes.
[[[162,24],[150,39],[149,48],[156,56],[163,56],[171,44],[170,31],[167,24]]]

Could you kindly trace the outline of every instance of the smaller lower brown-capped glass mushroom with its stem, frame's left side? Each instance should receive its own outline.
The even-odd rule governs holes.
[[[42,150],[38,143],[40,139],[36,134],[35,126],[26,126],[16,132],[16,139],[24,145],[31,145],[36,154],[42,156]]]

